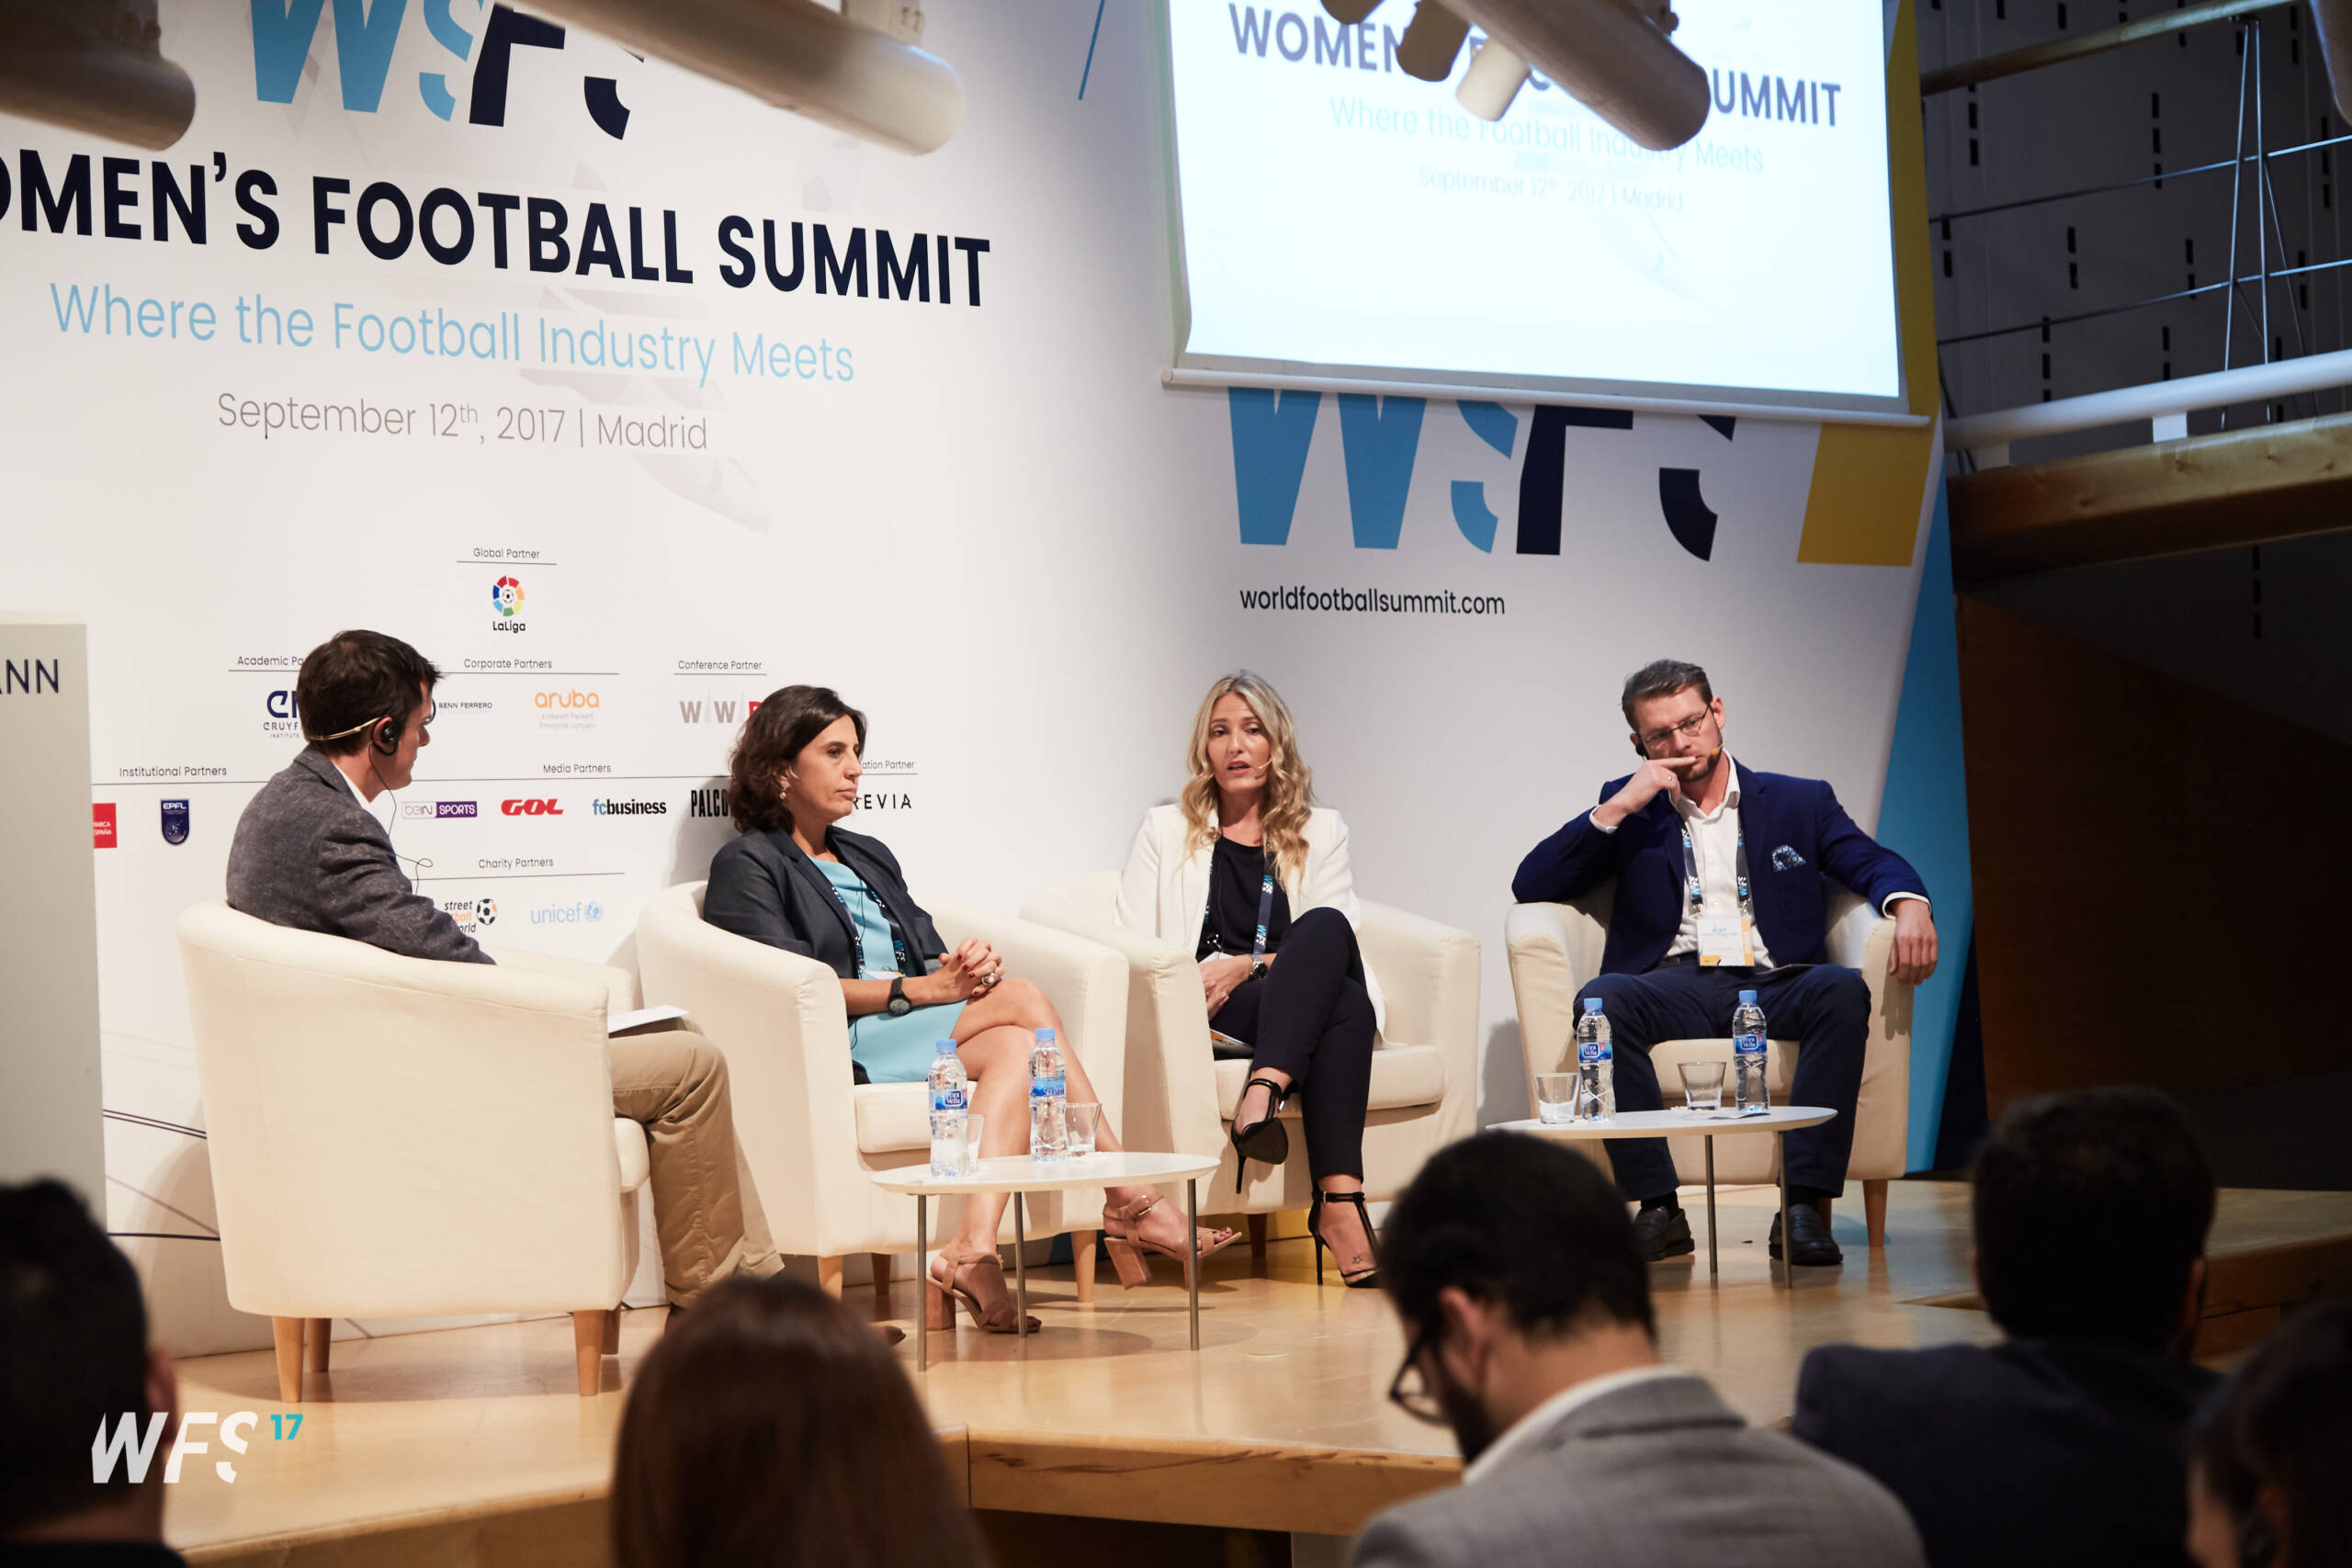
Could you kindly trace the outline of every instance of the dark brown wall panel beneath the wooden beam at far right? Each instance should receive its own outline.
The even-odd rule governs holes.
[[[1994,1114],[2347,1063],[2352,748],[1969,597],[1959,696]]]

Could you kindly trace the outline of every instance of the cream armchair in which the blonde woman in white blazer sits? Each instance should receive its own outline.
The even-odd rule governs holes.
[[[1249,1166],[1235,1204],[1232,1112],[1249,1079],[1247,1060],[1209,1051],[1209,1009],[1200,969],[1183,943],[1141,936],[1117,924],[1120,872],[1087,872],[1028,896],[1021,914],[1117,947],[1127,959],[1127,1124],[1138,1150],[1221,1152],[1211,1180],[1221,1213],[1251,1218],[1251,1248],[1263,1248],[1263,1215],[1305,1208],[1305,1138],[1291,1138],[1279,1168]],[[1477,938],[1378,903],[1364,903],[1357,931],[1364,961],[1381,978],[1388,1039],[1371,1058],[1371,1112],[1364,1119],[1364,1192],[1395,1197],[1421,1161],[1470,1133],[1477,1119]],[[1303,1093],[1315,1093],[1312,1084]],[[1298,1103],[1282,1107],[1298,1117]]]

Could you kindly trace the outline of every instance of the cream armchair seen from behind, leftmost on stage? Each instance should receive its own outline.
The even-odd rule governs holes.
[[[179,919],[228,1302],[278,1392],[339,1316],[569,1312],[579,1392],[637,1272],[644,1128],[612,1114],[628,973],[407,959],[200,903]]]

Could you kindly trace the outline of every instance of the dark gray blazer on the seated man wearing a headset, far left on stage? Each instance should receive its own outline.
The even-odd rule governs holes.
[[[228,907],[412,959],[492,961],[409,886],[383,823],[315,745],[245,804],[228,844]]]

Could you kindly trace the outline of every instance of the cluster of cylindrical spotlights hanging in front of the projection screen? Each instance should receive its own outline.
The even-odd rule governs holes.
[[[1324,9],[1362,21],[1374,7],[1324,0]],[[1534,68],[1658,153],[1708,122],[1708,73],[1668,38],[1677,24],[1668,0],[1423,0],[1406,28],[1423,33],[1411,75],[1442,82],[1454,71],[1463,35],[1449,19],[1486,33],[1454,94],[1482,120],[1501,120]],[[1397,63],[1404,63],[1402,40]]]

